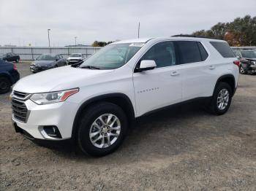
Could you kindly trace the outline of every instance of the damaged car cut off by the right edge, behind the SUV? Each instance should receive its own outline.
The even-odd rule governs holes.
[[[234,50],[236,56],[240,59],[241,65],[239,71],[241,74],[256,73],[256,50]]]

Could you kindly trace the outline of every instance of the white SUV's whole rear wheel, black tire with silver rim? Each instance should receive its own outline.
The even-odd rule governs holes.
[[[228,85],[226,82],[219,82],[214,90],[214,95],[211,98],[211,102],[210,105],[208,106],[208,109],[212,114],[225,114],[225,112],[227,112],[227,110],[230,107],[231,100],[232,89],[230,85]]]

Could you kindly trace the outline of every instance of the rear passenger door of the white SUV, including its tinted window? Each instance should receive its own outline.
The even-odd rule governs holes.
[[[208,63],[208,52],[201,42],[178,41],[182,73],[182,101],[210,96],[215,82],[211,72],[214,66]]]

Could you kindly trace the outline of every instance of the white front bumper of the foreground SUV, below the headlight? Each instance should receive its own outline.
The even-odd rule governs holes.
[[[15,118],[12,114],[12,122],[33,139],[63,140],[72,137],[72,126],[78,105],[69,101],[56,104],[37,105],[31,100],[24,101],[29,111],[26,122]],[[45,126],[54,125],[59,129],[61,139],[48,136],[44,131]],[[16,130],[17,131],[17,130]],[[19,133],[21,133],[19,131]]]

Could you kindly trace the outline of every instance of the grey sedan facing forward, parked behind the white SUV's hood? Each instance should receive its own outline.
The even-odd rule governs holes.
[[[30,71],[37,73],[48,69],[57,68],[59,66],[66,66],[67,61],[62,55],[44,54],[39,55],[35,61],[30,65]]]

